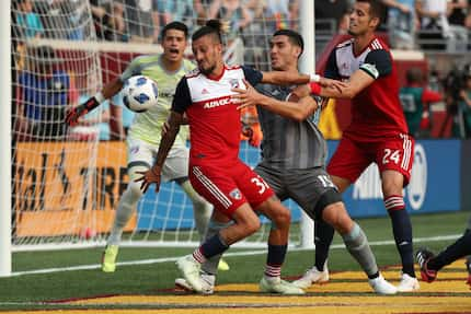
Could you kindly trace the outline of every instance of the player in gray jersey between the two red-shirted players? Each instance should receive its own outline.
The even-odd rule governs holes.
[[[279,71],[298,71],[298,58],[302,53],[302,37],[289,30],[277,31],[272,38],[272,68]],[[321,79],[323,80],[323,79]],[[320,82],[322,84],[322,82]],[[259,85],[256,92],[234,89],[241,107],[256,105],[264,138],[262,162],[255,172],[275,190],[278,198],[294,199],[314,220],[324,220],[342,235],[345,246],[358,261],[375,292],[394,294],[394,286],[380,275],[375,256],[365,233],[348,216],[336,187],[325,172],[325,140],[315,126],[318,102],[310,96],[289,100],[290,91],[278,86]],[[265,94],[265,95],[264,95]],[[218,259],[203,265],[202,279],[212,291]],[[188,284],[183,279],[175,281],[181,287]],[[302,280],[295,281],[307,288]]]

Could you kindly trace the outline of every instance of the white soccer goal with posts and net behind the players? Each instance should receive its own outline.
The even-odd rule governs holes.
[[[123,4],[118,0],[104,2]],[[28,93],[35,95],[37,89],[44,88],[47,95],[55,94],[51,97],[57,102],[60,102],[57,97],[67,97],[70,108],[83,102],[85,95],[94,94],[103,82],[116,78],[131,58],[160,51],[158,45],[131,43],[130,35],[127,43],[99,40],[89,1],[60,1],[60,7],[41,11],[38,16],[44,30],[38,31],[39,35],[30,36],[24,25],[19,25],[14,19],[23,10],[15,3],[1,1],[0,4],[3,18],[0,34],[4,43],[10,43],[11,50],[11,55],[0,57],[0,97],[4,104],[0,109],[0,277],[12,271],[12,252],[104,245],[127,182],[123,126],[119,118],[113,120],[114,115],[123,115],[119,96],[113,100],[116,105],[110,103],[96,109],[96,115],[82,129],[71,130],[61,126],[64,112],[50,108],[50,104],[45,106],[50,108],[45,112],[47,114],[37,114],[35,111],[42,104],[32,101],[34,97],[24,98],[24,85],[34,80],[32,77],[41,74],[42,67],[59,69],[60,73],[55,77],[58,81],[45,86],[34,85]],[[301,72],[309,73],[315,69],[314,1],[299,0],[299,25],[306,44]],[[228,39],[231,44],[225,58],[228,62],[244,62],[268,70],[268,38],[276,21],[265,15],[252,19],[242,35]],[[148,26],[142,24],[145,19],[138,22],[141,24],[135,25],[137,31]],[[196,18],[189,24],[196,28]],[[137,37],[146,39],[150,33],[142,32]],[[48,49],[39,49],[42,47]],[[187,55],[191,55],[189,48]],[[37,115],[47,116],[47,124],[38,123]],[[110,131],[118,130],[111,138],[118,140],[100,140],[100,123],[107,119],[111,119]],[[260,152],[242,141],[241,158],[253,166]],[[301,230],[292,229],[296,231],[291,232],[290,243],[312,247],[312,221],[292,201],[288,206],[297,212],[297,225]],[[265,246],[271,224],[264,222],[262,230],[243,245]],[[123,245],[146,246],[195,246],[197,243],[191,202],[175,184],[163,185],[157,196],[148,193],[139,202],[123,241]]]

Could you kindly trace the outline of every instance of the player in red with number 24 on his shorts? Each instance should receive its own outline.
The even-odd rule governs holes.
[[[402,260],[398,291],[420,288],[414,274],[412,224],[405,210],[402,189],[409,184],[414,156],[414,139],[399,101],[399,82],[389,48],[375,30],[380,24],[379,0],[357,0],[349,15],[351,39],[337,45],[330,55],[326,78],[347,83],[342,91],[311,83],[311,92],[326,97],[352,100],[352,123],[344,130],[328,173],[343,193],[371,163],[379,167],[384,206],[392,221],[394,241]],[[298,96],[306,93],[298,89]],[[321,233],[325,249],[317,249],[315,265],[328,258],[333,230]],[[322,270],[322,269],[319,269]]]

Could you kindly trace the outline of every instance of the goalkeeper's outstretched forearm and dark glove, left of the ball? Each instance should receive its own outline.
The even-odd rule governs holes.
[[[69,126],[76,126],[81,116],[87,115],[87,113],[100,106],[102,102],[116,95],[122,88],[123,81],[119,78],[111,81],[99,93],[87,100],[87,102],[69,111],[66,116],[66,123]]]

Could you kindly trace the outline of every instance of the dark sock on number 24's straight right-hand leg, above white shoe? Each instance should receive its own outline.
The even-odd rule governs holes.
[[[405,209],[390,209],[388,212],[391,217],[395,246],[401,255],[402,272],[415,277],[412,248],[412,224],[409,213]]]

